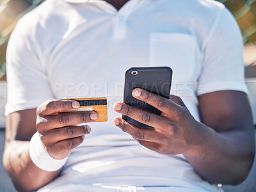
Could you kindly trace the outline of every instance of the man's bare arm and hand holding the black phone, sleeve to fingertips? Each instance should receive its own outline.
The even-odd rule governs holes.
[[[178,96],[170,100],[143,89],[135,98],[162,111],[154,115],[125,103],[115,111],[153,126],[141,129],[116,117],[116,126],[141,145],[160,154],[183,154],[195,171],[214,184],[239,184],[252,167],[254,149],[253,121],[246,94],[218,91],[199,97],[202,122],[196,121]]]

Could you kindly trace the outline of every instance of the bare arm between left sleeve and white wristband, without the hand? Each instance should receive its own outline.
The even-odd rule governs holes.
[[[45,172],[29,156],[29,140],[36,132],[36,108],[14,112],[6,118],[4,168],[18,191],[32,191],[56,178],[61,170]],[[19,161],[17,161],[19,159]],[[35,178],[35,175],[40,175]]]

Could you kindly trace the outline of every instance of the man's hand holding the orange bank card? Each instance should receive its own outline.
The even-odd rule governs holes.
[[[49,100],[36,110],[36,129],[46,151],[54,159],[67,158],[71,150],[83,142],[84,135],[90,133],[90,126],[77,124],[98,119],[96,112],[70,113],[78,108],[79,103],[74,100]]]

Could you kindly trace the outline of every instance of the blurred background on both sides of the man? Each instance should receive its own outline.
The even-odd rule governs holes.
[[[6,103],[6,47],[17,21],[44,0],[0,0],[0,191],[15,191],[6,174],[2,154],[4,147],[4,105]],[[191,0],[192,1],[192,0]],[[213,1],[213,0],[212,0]],[[256,0],[219,0],[233,13],[244,39],[244,68],[256,125]],[[2,128],[2,129],[1,129]],[[225,191],[256,191],[255,163],[248,179],[237,187],[223,186]]]

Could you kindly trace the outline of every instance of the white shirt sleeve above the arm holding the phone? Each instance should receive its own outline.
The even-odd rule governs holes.
[[[244,82],[243,38],[235,18],[222,8],[202,45],[204,61],[197,94],[214,91],[248,92]]]

